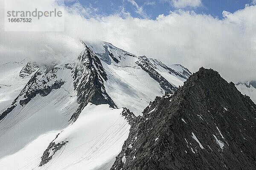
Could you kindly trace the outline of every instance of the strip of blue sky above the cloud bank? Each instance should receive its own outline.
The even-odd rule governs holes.
[[[93,14],[108,16],[122,12],[132,17],[155,19],[159,14],[168,15],[179,9],[211,14],[222,18],[222,11],[233,13],[256,0],[69,0],[69,4],[79,2],[85,8],[93,9]]]

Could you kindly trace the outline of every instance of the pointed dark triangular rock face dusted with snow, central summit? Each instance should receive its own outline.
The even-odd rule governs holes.
[[[76,121],[81,110],[88,102],[95,105],[109,104],[112,108],[117,108],[105,90],[104,81],[108,80],[107,74],[102,68],[99,58],[87,45],[79,55],[78,62],[76,62],[72,72],[79,108],[71,116],[70,120]]]

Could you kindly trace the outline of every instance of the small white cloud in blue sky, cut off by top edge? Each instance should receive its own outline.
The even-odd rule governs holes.
[[[171,0],[172,6],[175,8],[199,7],[202,6],[201,0]]]

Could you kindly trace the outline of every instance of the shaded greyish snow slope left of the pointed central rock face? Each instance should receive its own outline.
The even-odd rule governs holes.
[[[14,105],[17,106],[0,121],[1,146],[8,148],[0,150],[0,158],[17,152],[41,134],[61,130],[69,124],[70,116],[78,107],[73,82],[70,79],[71,71],[61,65],[56,65],[55,68],[60,68],[56,72],[57,79],[65,81],[61,88],[52,90],[47,96],[36,94],[23,106],[18,104],[26,99],[26,91],[39,88],[37,85],[44,82],[42,80],[46,79],[45,74],[39,75],[37,83],[27,84],[23,89],[24,93],[21,92],[16,99],[17,104]],[[55,81],[57,80],[49,80],[48,85]]]

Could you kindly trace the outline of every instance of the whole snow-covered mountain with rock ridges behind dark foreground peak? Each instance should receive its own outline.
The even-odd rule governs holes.
[[[82,43],[70,63],[0,65],[0,169],[110,169],[129,119],[191,75],[108,42]]]

